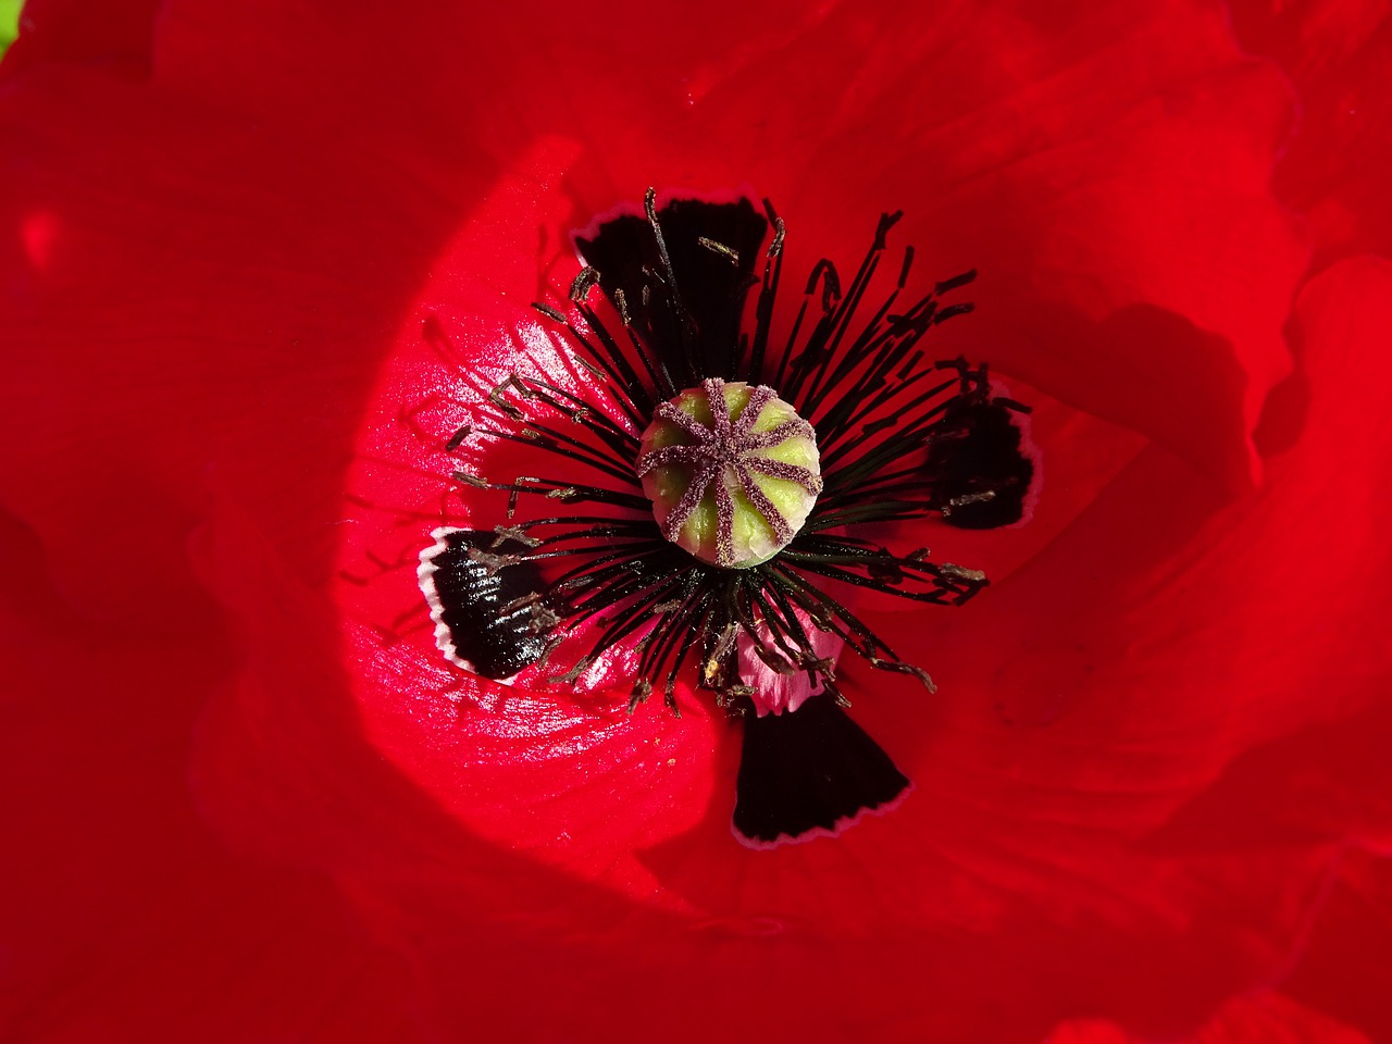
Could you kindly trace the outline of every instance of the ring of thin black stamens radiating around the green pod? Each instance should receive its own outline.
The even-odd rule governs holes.
[[[933,511],[947,516],[944,507],[955,518],[959,509],[969,512],[974,505],[951,501],[983,489],[970,454],[960,465],[948,462],[947,477],[956,482],[960,473],[965,484],[940,482],[922,464],[926,448],[931,457],[934,445],[949,445],[948,437],[966,423],[963,409],[977,400],[990,409],[1016,408],[990,397],[984,366],[973,369],[962,358],[934,362],[923,344],[935,326],[970,310],[969,303],[940,303],[940,296],[970,283],[974,273],[899,302],[913,258],[906,249],[896,285],[860,323],[857,309],[885,251],[885,234],[898,220],[898,214],[885,214],[852,278],[841,280],[828,260],[818,263],[791,331],[780,342],[770,334],[782,258],[781,219],[767,202],[767,221],[748,202],[690,207],[683,219],[678,203],[658,212],[650,198],[646,221],[619,217],[606,223],[594,241],[579,241],[599,267],[576,276],[571,309],[536,305],[571,342],[565,366],[553,370],[533,359],[532,372],[501,374],[501,380],[464,374],[479,404],[462,434],[455,433],[450,443],[459,448],[465,440],[483,437],[540,451],[535,475],[484,477],[476,466],[455,472],[461,496],[472,497],[476,489],[507,493],[508,529],[536,535],[537,546],[526,546],[518,557],[543,572],[536,590],[551,614],[539,671],[548,682],[571,683],[607,651],[626,647],[639,657],[632,703],[661,692],[675,711],[678,678],[695,660],[696,686],[715,692],[720,706],[742,710],[749,703],[736,656],[742,643],[780,674],[806,672],[809,683],[846,703],[832,664],[814,651],[810,631],[816,629],[834,636],[845,653],[869,667],[908,674],[931,689],[927,674],[878,638],[853,611],[848,594],[860,589],[920,604],[960,606],[987,586],[984,574],[928,561],[927,548],[895,551],[856,532],[863,523],[915,519]],[[675,223],[664,226],[670,219]],[[713,251],[682,221],[731,249]],[[760,238],[768,227],[773,244],[761,252]],[[711,238],[714,228],[724,231]],[[658,256],[647,256],[649,241],[661,241]],[[752,277],[756,259],[764,263],[761,281]],[[736,319],[752,287],[759,288],[756,324],[746,337]],[[612,316],[593,301],[597,288]],[[436,324],[423,329],[432,344],[444,337]],[[572,380],[582,373],[585,388],[576,390]],[[717,469],[718,452],[715,459],[709,454],[700,459],[689,450],[700,437],[717,434],[709,380],[720,381],[713,386],[720,390],[717,402],[736,384],[753,401],[753,406],[749,401],[727,402],[724,416],[734,434],[749,411],[745,452],[736,454],[743,475],[729,461]],[[764,384],[770,387],[764,390]],[[686,393],[679,391],[683,387]],[[681,409],[686,395],[704,398],[707,411]],[[764,416],[774,397],[788,409],[781,419]],[[752,423],[756,418],[761,423]],[[639,437],[658,422],[671,429],[663,445]],[[756,438],[775,443],[807,430],[816,432],[820,496],[810,493],[809,482],[799,482],[806,475],[781,466],[806,468],[806,461],[778,461],[778,454],[759,452],[753,445]],[[649,457],[649,451],[670,447],[686,448],[665,458]],[[547,468],[547,459],[558,470]],[[692,507],[686,523],[672,526],[663,511],[674,508],[692,479],[707,469],[710,503]],[[713,489],[717,470],[728,482]],[[649,483],[660,472],[675,477],[665,497],[653,498]],[[766,482],[784,482],[812,498],[810,514],[799,519],[778,497],[771,497],[771,512],[757,504],[746,483],[760,490]],[[998,486],[992,479],[991,489]],[[1027,487],[1027,479],[1016,486]],[[721,490],[729,494],[731,505],[748,507],[748,512],[728,512],[729,567],[720,564],[715,494]],[[514,521],[519,497],[536,497],[544,505],[541,516],[523,514]],[[590,504],[594,514],[579,507]],[[704,557],[697,557],[668,536],[679,537],[703,512],[710,543]],[[753,564],[743,568],[738,561],[741,522],[759,516],[763,535],[773,541],[774,530],[781,529],[773,515],[793,530],[791,541],[767,558],[750,555]],[[668,525],[660,525],[663,521]],[[469,562],[469,568],[479,565],[472,558]],[[578,653],[580,644],[585,651],[576,660],[569,649]]]

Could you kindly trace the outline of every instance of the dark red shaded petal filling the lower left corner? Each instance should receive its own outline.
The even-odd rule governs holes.
[[[0,514],[7,1040],[411,1040],[405,976],[319,874],[228,853],[188,789],[216,635],[74,619]]]

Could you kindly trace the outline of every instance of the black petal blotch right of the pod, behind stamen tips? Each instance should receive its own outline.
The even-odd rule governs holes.
[[[1001,400],[962,397],[948,405],[924,465],[931,507],[948,525],[995,529],[1023,518],[1034,462],[1020,448],[1015,415]]]

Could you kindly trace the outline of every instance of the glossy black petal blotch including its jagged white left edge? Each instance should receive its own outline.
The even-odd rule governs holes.
[[[420,555],[420,590],[436,621],[436,644],[484,678],[511,678],[546,651],[551,617],[526,547],[497,533],[437,529]]]

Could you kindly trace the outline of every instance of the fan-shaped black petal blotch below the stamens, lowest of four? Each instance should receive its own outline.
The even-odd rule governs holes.
[[[889,756],[830,696],[796,711],[745,715],[735,830],[756,844],[835,830],[909,786]]]

